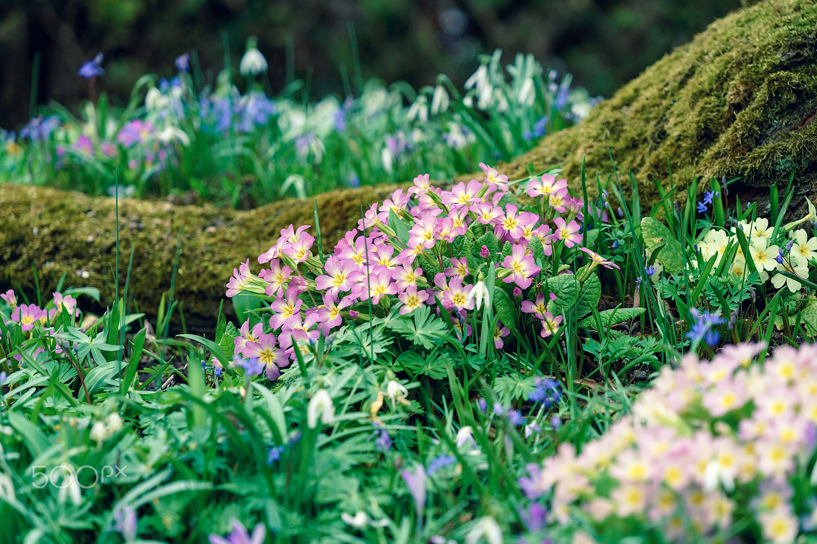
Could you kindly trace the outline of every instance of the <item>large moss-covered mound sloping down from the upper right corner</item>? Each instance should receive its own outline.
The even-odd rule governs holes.
[[[596,107],[578,126],[557,132],[499,168],[511,179],[561,165],[578,188],[612,172],[625,186],[635,173],[645,204],[650,176],[668,186],[742,176],[744,186],[817,181],[817,4],[766,0],[712,23]],[[595,187],[595,181],[590,189]]]

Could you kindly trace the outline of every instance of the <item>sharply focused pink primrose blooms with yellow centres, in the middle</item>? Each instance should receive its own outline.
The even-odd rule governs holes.
[[[400,314],[413,312],[422,304],[435,305],[439,298],[467,336],[471,334],[467,312],[478,310],[483,300],[485,288],[480,281],[489,262],[497,270],[497,279],[513,284],[513,294],[522,297],[522,291],[532,288],[545,266],[534,259],[530,242],[538,240],[545,255],[551,255],[555,243],[567,248],[580,244],[581,227],[576,219],[582,219],[583,201],[569,196],[564,179],[556,181],[555,176],[542,175],[532,179],[527,188],[530,196],[540,197],[539,213],[520,210],[513,198],[506,197],[510,192],[507,176],[480,166],[485,173],[482,181],[472,179],[450,191],[432,186],[428,175],[418,175],[408,191],[397,190],[391,198],[366,210],[358,228],[346,232],[325,261],[323,255],[312,253],[315,237],[306,232],[308,225],[282,229],[275,245],[258,257],[258,262],[269,268],[256,276],[250,272],[248,260],[234,270],[227,284],[228,297],[251,293],[273,301],[269,321],[272,334],[264,340],[261,329],[258,334],[243,334],[240,346],[237,340],[236,353],[253,356],[266,350],[275,374],[279,361],[293,359],[298,338],[314,341],[320,332],[330,334],[344,319],[368,319],[353,305],[371,300],[373,305],[387,308],[388,295],[402,303]],[[395,217],[403,224],[391,224],[390,218]],[[555,230],[551,231],[548,221],[554,223]],[[469,232],[472,226],[479,227],[479,232],[493,232],[500,247],[510,244],[510,254],[506,250],[492,255],[487,246],[475,245],[483,259],[478,263],[480,259],[456,245],[464,244],[467,238],[471,244],[476,242]],[[539,290],[540,286],[533,288]],[[537,300],[535,312],[529,313],[541,321],[542,336],[556,333],[561,316],[547,312],[542,294]],[[277,344],[273,334],[278,335]],[[507,334],[500,323],[494,334],[495,345],[502,346]]]

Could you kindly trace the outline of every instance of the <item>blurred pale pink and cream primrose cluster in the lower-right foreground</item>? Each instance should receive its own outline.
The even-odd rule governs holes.
[[[760,349],[728,346],[712,362],[690,355],[663,367],[632,415],[579,455],[561,444],[528,467],[522,488],[532,499],[552,489],[560,521],[577,505],[599,523],[635,516],[691,542],[749,511],[766,542],[794,542],[817,526],[815,504],[792,500],[817,438],[817,347],[779,347],[752,364]]]

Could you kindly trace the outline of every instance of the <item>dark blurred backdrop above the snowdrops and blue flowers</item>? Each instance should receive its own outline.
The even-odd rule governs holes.
[[[745,2],[745,0],[743,0]],[[77,76],[105,53],[98,85],[127,102],[144,73],[169,77],[196,50],[205,78],[235,67],[249,35],[270,63],[270,84],[307,79],[313,98],[354,85],[353,27],[362,77],[415,88],[446,73],[462,86],[476,55],[502,47],[505,64],[531,52],[546,68],[574,74],[591,95],[619,86],[741,0],[0,0],[0,126],[27,121],[37,104],[75,110],[87,98]],[[350,25],[351,24],[351,25]],[[291,53],[288,53],[291,51]],[[39,55],[38,55],[39,53]],[[35,57],[38,76],[32,77]],[[288,64],[287,60],[292,62]],[[287,66],[289,65],[289,69]]]

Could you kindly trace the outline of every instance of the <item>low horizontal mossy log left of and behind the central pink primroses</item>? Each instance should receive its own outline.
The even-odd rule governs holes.
[[[328,192],[317,197],[324,251],[331,251],[360,217],[360,206],[382,201],[398,186]],[[233,268],[268,250],[290,223],[312,225],[313,200],[288,199],[256,210],[174,206],[169,202],[119,201],[120,293],[134,248],[129,290],[141,312],[154,316],[169,290],[179,231],[183,226],[175,298],[188,329],[215,328],[219,303]],[[65,285],[97,287],[114,298],[116,203],[109,197],[19,184],[0,184],[0,292],[30,288],[38,272],[42,293],[51,294],[60,276]],[[83,274],[87,272],[87,274]],[[87,276],[87,277],[83,277]],[[30,295],[31,290],[27,289]],[[104,309],[104,308],[103,308]],[[225,301],[225,314],[232,305]],[[179,325],[178,320],[175,325]]]

